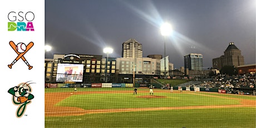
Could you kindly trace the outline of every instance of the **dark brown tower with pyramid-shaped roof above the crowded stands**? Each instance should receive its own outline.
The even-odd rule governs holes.
[[[213,68],[221,69],[223,66],[237,67],[240,65],[244,65],[244,56],[241,55],[241,51],[234,45],[234,42],[229,43],[224,55],[213,58]]]

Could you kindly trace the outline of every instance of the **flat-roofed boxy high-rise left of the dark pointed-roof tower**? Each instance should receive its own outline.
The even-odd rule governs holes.
[[[184,56],[184,67],[189,70],[203,70],[203,55],[190,53]]]

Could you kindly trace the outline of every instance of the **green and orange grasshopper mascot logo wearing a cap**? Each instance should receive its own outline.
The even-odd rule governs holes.
[[[19,85],[8,90],[8,92],[12,95],[12,103],[19,106],[16,111],[16,116],[18,118],[23,116],[27,105],[30,104],[31,100],[34,98],[34,96],[31,94],[31,83],[28,82],[19,83]]]

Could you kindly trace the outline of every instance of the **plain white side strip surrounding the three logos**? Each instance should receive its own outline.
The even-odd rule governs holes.
[[[1,125],[0,127],[45,127],[45,1],[1,1],[0,2],[0,33],[1,33]],[[8,31],[8,13],[33,12],[35,19],[32,21],[35,31]],[[16,21],[17,23],[18,21]],[[26,22],[24,20],[23,22]],[[10,69],[9,64],[18,56],[9,45],[13,41],[16,45],[23,42],[34,46],[24,55],[33,68],[28,70],[26,63],[19,59]],[[21,118],[16,117],[18,106],[12,103],[9,88],[19,83],[32,81],[32,94],[35,96]],[[26,115],[26,116],[25,116]]]

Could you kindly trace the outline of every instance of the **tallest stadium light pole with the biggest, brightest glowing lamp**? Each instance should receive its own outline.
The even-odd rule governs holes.
[[[161,34],[164,36],[164,78],[166,78],[165,36],[170,35],[172,31],[173,31],[173,28],[169,23],[164,23],[161,26]]]

